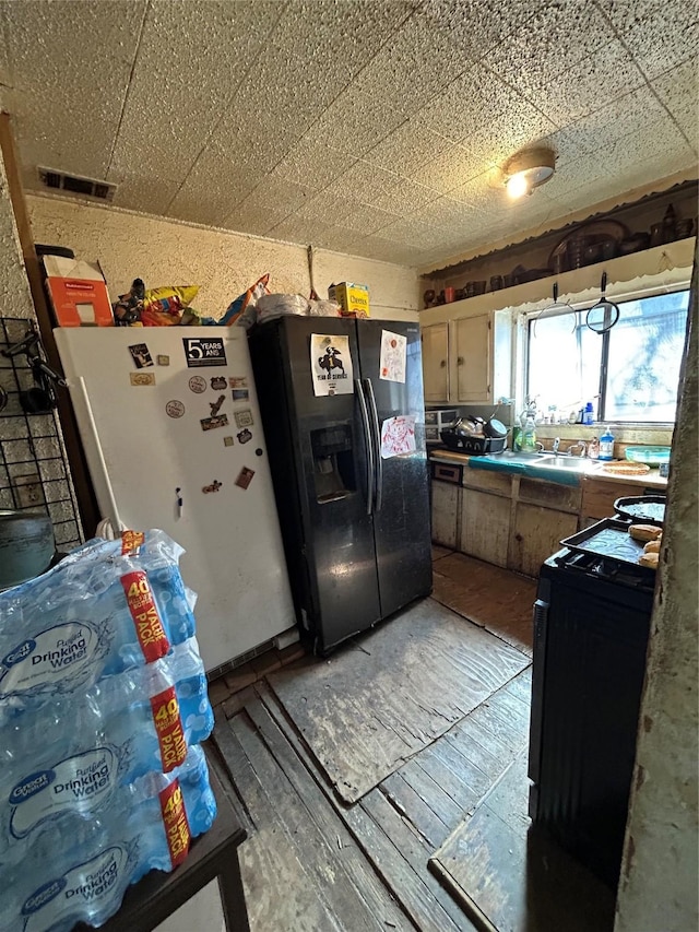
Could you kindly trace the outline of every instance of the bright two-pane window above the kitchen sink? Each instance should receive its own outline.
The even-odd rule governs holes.
[[[596,421],[673,422],[688,306],[688,291],[625,302],[604,334],[584,310],[530,320],[528,396],[566,415],[595,401]]]

